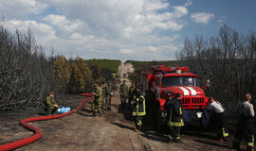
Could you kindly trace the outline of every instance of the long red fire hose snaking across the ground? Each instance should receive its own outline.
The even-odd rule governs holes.
[[[92,93],[82,93],[83,96],[91,96]],[[13,143],[6,143],[6,144],[1,144],[0,145],[0,151],[7,151],[7,150],[12,150],[12,149],[16,149],[18,147],[21,147],[21,146],[24,146],[28,143],[33,143],[33,142],[36,142],[37,140],[39,140],[41,137],[42,137],[42,130],[39,129],[38,127],[36,126],[32,126],[32,125],[28,125],[27,123],[29,122],[34,122],[34,121],[43,121],[43,120],[49,120],[49,119],[57,119],[57,118],[61,118],[61,117],[64,117],[66,115],[69,115],[69,114],[72,114],[74,112],[76,112],[77,110],[81,109],[82,108],[82,105],[89,101],[90,99],[92,99],[93,96],[91,97],[88,97],[86,99],[84,99],[80,105],[77,107],[77,109],[73,109],[71,111],[68,111],[66,113],[63,113],[63,114],[57,114],[57,115],[50,115],[50,116],[38,116],[38,117],[30,117],[30,118],[27,118],[27,119],[24,119],[20,122],[20,124],[24,127],[26,127],[28,130],[31,130],[34,132],[34,135],[33,136],[30,136],[30,137],[27,137],[25,139],[22,139],[22,140],[18,140],[18,141],[15,141]]]

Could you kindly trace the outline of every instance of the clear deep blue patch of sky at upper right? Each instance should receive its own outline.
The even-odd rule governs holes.
[[[196,33],[202,34],[205,37],[214,36],[217,34],[221,24],[229,25],[229,27],[247,33],[250,30],[255,30],[256,21],[253,16],[256,14],[255,0],[196,0],[189,8],[190,11],[206,11],[214,14],[214,19],[209,25],[197,25],[190,22],[190,25],[184,27],[183,32],[189,32],[190,35]],[[253,21],[254,20],[254,21]],[[190,31],[190,27],[192,31]]]

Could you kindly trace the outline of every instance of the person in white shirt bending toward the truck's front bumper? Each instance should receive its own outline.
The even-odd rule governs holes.
[[[210,110],[211,113],[215,114],[215,118],[218,122],[219,129],[221,131],[221,142],[227,142],[229,137],[228,127],[227,127],[227,111],[226,109],[221,105],[220,102],[215,101],[212,96],[209,96],[209,106],[208,110]]]

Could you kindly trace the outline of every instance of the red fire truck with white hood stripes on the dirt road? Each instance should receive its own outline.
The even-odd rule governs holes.
[[[149,92],[149,100],[153,102],[157,114],[158,127],[163,124],[163,108],[167,92],[174,96],[182,94],[183,109],[196,112],[198,118],[202,115],[202,109],[207,105],[205,92],[199,87],[197,75],[189,72],[188,67],[171,67],[160,65],[153,67],[148,72],[142,72],[141,83],[144,90]]]

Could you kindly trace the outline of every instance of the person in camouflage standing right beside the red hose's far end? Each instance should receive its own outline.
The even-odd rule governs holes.
[[[94,100],[93,100],[93,103],[92,103],[92,113],[93,113],[93,116],[96,116],[96,106],[97,106],[97,111],[99,112],[100,116],[102,114],[102,102],[103,102],[103,99],[102,99],[102,85],[95,85],[96,89],[95,89],[95,92],[93,92],[93,95],[94,95]]]

